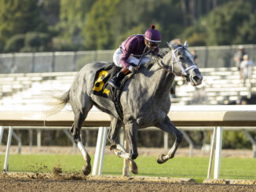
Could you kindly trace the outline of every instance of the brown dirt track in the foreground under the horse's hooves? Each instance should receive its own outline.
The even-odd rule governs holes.
[[[209,184],[170,178],[0,174],[0,191],[255,191],[256,185]]]

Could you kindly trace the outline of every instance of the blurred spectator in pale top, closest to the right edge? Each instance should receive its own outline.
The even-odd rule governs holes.
[[[252,67],[254,62],[249,60],[249,56],[246,54],[243,56],[243,61],[240,63],[240,78],[243,79],[243,83],[246,82],[247,78],[251,78]]]

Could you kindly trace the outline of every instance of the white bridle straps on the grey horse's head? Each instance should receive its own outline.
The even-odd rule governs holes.
[[[189,74],[188,74],[188,71],[191,70],[191,69],[197,69],[197,67],[196,67],[196,65],[194,64],[194,65],[192,65],[192,66],[190,66],[190,67],[188,67],[188,68],[185,69],[185,68],[181,65],[180,61],[177,59],[177,56],[176,56],[176,54],[175,54],[175,53],[177,52],[177,50],[179,50],[179,49],[186,49],[186,50],[188,50],[188,49],[187,49],[185,46],[183,46],[183,45],[179,46],[177,49],[172,49],[172,53],[171,53],[171,71],[170,71],[168,68],[166,68],[166,67],[163,66],[163,60],[161,60],[161,64],[160,64],[159,62],[157,62],[157,63],[159,64],[159,67],[160,67],[161,69],[163,69],[164,71],[167,71],[167,72],[170,73],[170,74],[174,74],[175,76],[180,76],[180,77],[186,78],[187,81],[189,82]],[[174,71],[174,60],[176,61],[176,63],[178,64],[178,66],[181,68],[181,71],[182,71],[183,73],[177,73],[177,72]]]

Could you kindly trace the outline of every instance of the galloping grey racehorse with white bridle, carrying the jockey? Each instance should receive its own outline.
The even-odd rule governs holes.
[[[71,104],[75,121],[70,129],[71,135],[81,150],[86,165],[82,168],[84,175],[91,171],[90,155],[83,146],[80,131],[82,123],[90,109],[96,106],[99,110],[110,114],[111,125],[108,131],[110,149],[119,157],[130,161],[130,171],[137,174],[137,129],[155,126],[164,132],[171,132],[175,142],[168,154],[161,154],[157,159],[159,164],[174,158],[182,133],[170,121],[167,114],[170,110],[170,89],[175,75],[182,76],[193,86],[200,85],[202,74],[188,52],[188,42],[185,45],[168,44],[170,50],[163,56],[152,56],[150,62],[140,67],[136,74],[126,81],[120,95],[120,105],[123,107],[123,119],[115,110],[112,100],[93,94],[93,81],[96,72],[108,63],[89,63],[82,67],[68,92],[57,97],[56,106],[59,110],[67,103]],[[56,111],[57,112],[57,111]],[[125,125],[126,141],[129,150],[119,143],[119,130]]]

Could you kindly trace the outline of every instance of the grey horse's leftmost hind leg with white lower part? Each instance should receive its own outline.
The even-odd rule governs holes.
[[[71,135],[73,136],[73,139],[75,143],[77,143],[77,146],[79,147],[79,150],[82,152],[82,156],[84,160],[86,161],[86,165],[83,166],[82,172],[85,176],[88,176],[91,172],[91,165],[90,165],[90,155],[86,151],[86,148],[82,144],[80,132],[82,129],[82,123],[85,121],[86,116],[90,109],[93,107],[93,103],[88,99],[86,101],[86,106],[82,108],[82,111],[79,110],[79,107],[75,107],[76,105],[71,103],[71,107],[74,112],[74,123],[70,129]]]

